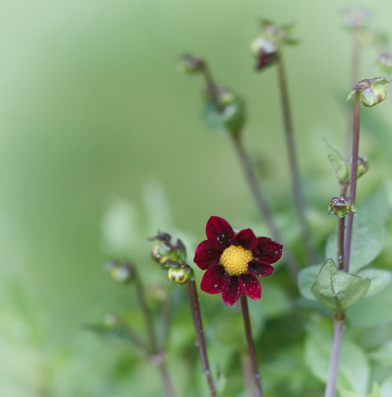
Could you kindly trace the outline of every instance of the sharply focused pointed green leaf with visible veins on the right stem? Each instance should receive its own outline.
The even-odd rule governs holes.
[[[345,310],[358,302],[369,289],[370,280],[339,270],[332,259],[321,268],[311,290],[317,300],[334,311]]]

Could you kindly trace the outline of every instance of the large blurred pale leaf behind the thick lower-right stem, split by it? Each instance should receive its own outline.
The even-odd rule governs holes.
[[[321,322],[307,327],[304,360],[311,373],[326,382],[331,355],[332,330]],[[364,351],[343,335],[337,389],[351,390],[363,396],[367,393],[370,367]]]

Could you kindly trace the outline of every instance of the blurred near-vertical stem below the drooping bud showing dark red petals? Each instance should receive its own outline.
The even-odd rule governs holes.
[[[306,215],[304,211],[305,200],[303,198],[301,183],[299,179],[298,162],[297,162],[295,145],[294,145],[293,122],[290,112],[289,94],[287,89],[286,75],[285,75],[282,57],[279,57],[277,64],[278,64],[279,88],[280,88],[280,95],[282,100],[283,120],[285,123],[286,144],[289,155],[289,168],[290,168],[290,174],[292,180],[295,208],[299,218],[299,224],[301,227],[302,240],[306,248],[305,254],[307,257],[307,262],[308,264],[311,264],[314,262],[314,252],[311,246],[309,225],[307,223]]]

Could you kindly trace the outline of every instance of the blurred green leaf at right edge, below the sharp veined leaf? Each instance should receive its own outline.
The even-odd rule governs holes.
[[[375,327],[392,322],[392,284],[379,294],[361,300],[346,311],[347,321],[358,327]]]

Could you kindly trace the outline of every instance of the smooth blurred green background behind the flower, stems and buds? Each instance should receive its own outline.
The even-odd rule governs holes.
[[[201,82],[177,73],[176,62],[184,52],[206,57],[216,80],[245,98],[245,145],[293,242],[299,229],[277,74],[273,67],[254,73],[249,44],[261,16],[296,23],[301,44],[287,48],[284,61],[306,206],[314,244],[321,247],[335,226],[326,209],[339,193],[323,138],[344,150],[351,38],[341,25],[343,7],[353,5],[361,4],[1,1],[1,396],[162,395],[155,369],[135,349],[83,329],[113,310],[138,316],[132,287],[120,287],[102,271],[113,256],[132,258],[147,284],[160,281],[174,291],[182,317],[169,366],[178,390],[203,395],[186,386],[193,378],[184,349],[196,354],[181,303],[186,294],[166,284],[146,238],[158,228],[168,231],[188,243],[192,261],[211,215],[256,234],[267,231],[230,140],[211,134],[200,117]],[[374,1],[371,10],[372,26],[391,38],[391,2]],[[361,79],[380,75],[379,50],[364,48]],[[369,157],[371,176],[360,180],[358,200],[381,181],[391,184],[391,106],[387,99],[363,111],[360,155]],[[290,301],[278,295],[281,313]],[[201,304],[209,298],[202,296]],[[219,296],[212,299],[230,312]],[[212,321],[214,314],[207,314]],[[214,368],[226,357],[222,351],[212,347]],[[199,377],[198,366],[194,371]],[[242,390],[238,377],[233,395]]]

